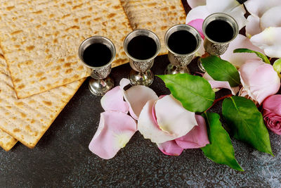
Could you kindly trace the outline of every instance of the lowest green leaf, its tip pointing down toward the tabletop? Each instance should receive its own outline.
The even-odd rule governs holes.
[[[210,144],[201,148],[204,155],[215,163],[228,165],[235,170],[244,171],[235,159],[233,144],[228,132],[221,125],[220,116],[217,113],[204,113],[204,118],[208,125],[210,141]]]

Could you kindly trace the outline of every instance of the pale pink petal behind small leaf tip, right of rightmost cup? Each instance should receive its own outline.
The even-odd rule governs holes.
[[[251,53],[233,53],[235,49],[251,49],[263,53],[263,50],[251,44],[250,40],[247,37],[240,34],[237,35],[233,42],[230,42],[226,53],[221,55],[222,59],[229,61],[231,64],[235,65],[236,68],[240,68],[241,65],[249,59],[259,60],[259,57],[256,56],[256,54]]]

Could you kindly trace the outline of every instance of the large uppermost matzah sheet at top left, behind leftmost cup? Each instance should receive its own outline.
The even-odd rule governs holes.
[[[89,75],[77,56],[93,35],[112,40],[113,66],[127,62],[131,32],[119,0],[0,0],[0,41],[19,99]]]

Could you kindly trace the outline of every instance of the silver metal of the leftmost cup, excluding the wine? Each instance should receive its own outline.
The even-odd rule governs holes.
[[[104,44],[107,46],[108,49],[111,51],[111,58],[110,61],[100,67],[93,67],[91,65],[88,65],[85,63],[83,54],[86,48],[88,48],[91,44]],[[91,79],[89,80],[89,89],[92,94],[97,96],[103,96],[107,91],[112,89],[114,86],[113,80],[108,77],[111,72],[111,64],[114,60],[116,55],[116,49],[115,45],[110,41],[110,39],[107,39],[106,37],[101,36],[93,36],[89,37],[88,39],[85,39],[84,42],[81,43],[78,50],[78,56],[81,59],[81,61],[84,63],[84,65],[91,69]],[[95,56],[93,56],[95,58]]]

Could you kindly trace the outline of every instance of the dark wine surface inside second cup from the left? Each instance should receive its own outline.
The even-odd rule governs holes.
[[[145,60],[152,58],[157,51],[157,45],[154,39],[140,35],[133,37],[128,44],[128,53],[136,59]]]

